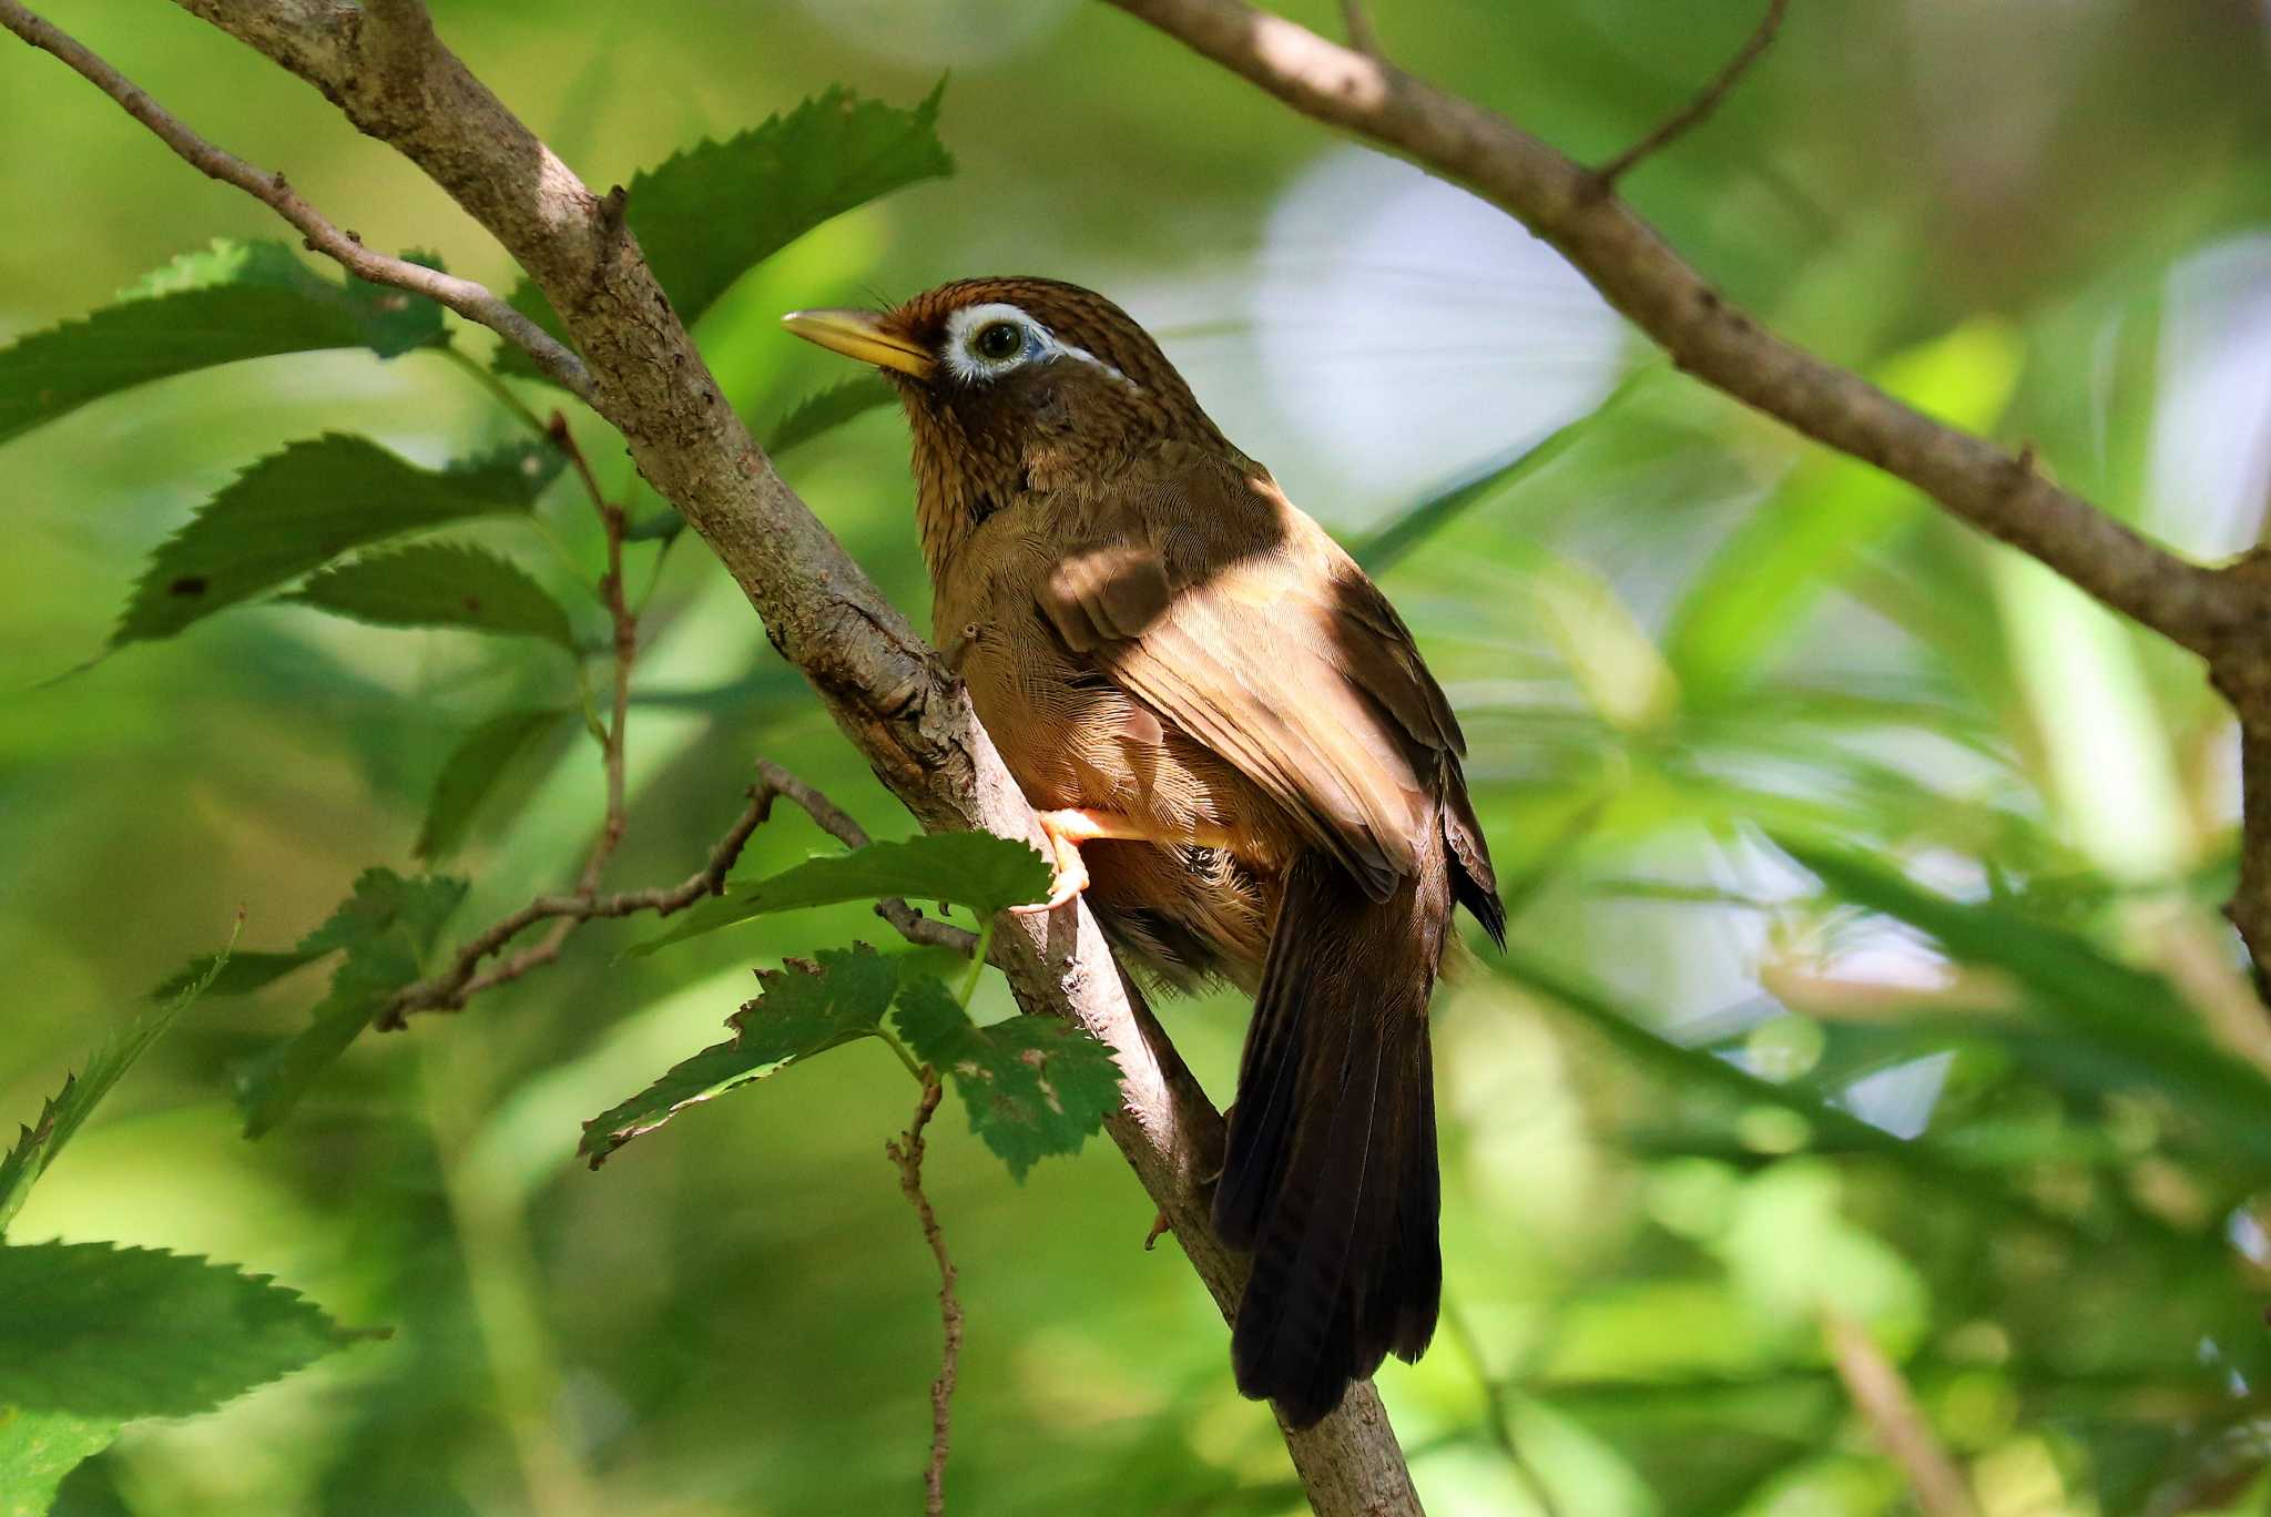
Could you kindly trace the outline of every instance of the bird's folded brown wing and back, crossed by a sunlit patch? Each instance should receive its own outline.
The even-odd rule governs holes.
[[[1403,620],[1267,475],[1183,468],[1120,488],[1081,513],[1106,540],[1042,579],[1049,625],[1385,899],[1465,752]]]

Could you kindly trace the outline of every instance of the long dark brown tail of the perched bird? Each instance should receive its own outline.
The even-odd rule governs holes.
[[[1381,1358],[1435,1331],[1435,1079],[1426,1004],[1451,881],[1440,849],[1385,902],[1326,856],[1285,881],[1215,1226],[1254,1251],[1231,1363],[1238,1390],[1294,1426],[1340,1403]]]

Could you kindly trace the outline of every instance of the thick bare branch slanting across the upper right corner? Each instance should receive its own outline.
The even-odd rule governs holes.
[[[1242,0],[1111,0],[1297,111],[1465,184],[1553,243],[1706,384],[1876,463],[2162,636],[2221,654],[2264,597],[2167,552],[1994,443],[1944,427],[1728,304],[1599,175],[1503,116]],[[1740,61],[1740,59],[1737,59]]]

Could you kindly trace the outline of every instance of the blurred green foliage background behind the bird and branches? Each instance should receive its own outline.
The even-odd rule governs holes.
[[[434,9],[600,186],[831,82],[908,104],[952,70],[958,175],[822,227],[702,322],[754,420],[840,379],[779,311],[1040,273],[1126,304],[1349,543],[1574,425],[1428,513],[1381,570],[1467,724],[1515,911],[1515,954],[1438,999],[1447,1317],[1424,1363],[1381,1376],[1428,1510],[1917,1510],[1840,1381],[1837,1324],[1899,1367],[1989,1517],[2271,1510],[2271,1176],[2239,1131],[2271,1122],[2271,1097],[2207,1117],[2155,1042],[2205,1029],[2271,1067],[2214,913],[2235,731],[2194,659],[1671,375],[1512,223],[1106,7]],[[1372,5],[1406,66],[1594,161],[1708,79],[1758,9]],[[375,245],[511,284],[407,164],[175,7],[45,11]],[[2257,543],[2271,5],[1805,0],[1724,109],[1624,188],[1817,352],[2033,441],[2042,468],[2192,554]],[[0,198],[0,341],[213,236],[279,234],[14,43]],[[148,386],[0,447],[7,1122],[238,906],[245,945],[282,947],[361,868],[409,870],[456,738],[572,697],[538,649],[288,606],[41,684],[102,647],[204,495],[327,427],[420,461],[504,436],[429,354],[316,354]],[[631,488],[620,445],[584,436]],[[899,420],[831,434],[788,475],[922,620]],[[588,511],[565,506],[565,547],[595,568]],[[522,538],[500,547],[568,575]],[[697,543],[652,606],[611,881],[693,870],[756,754],[879,836],[911,831]],[[565,881],[588,847],[588,747],[563,738],[506,790],[456,861],[459,927]],[[1989,942],[1973,961],[1994,942],[2048,958],[1953,961],[1821,890],[1774,843],[1792,836],[1960,902]],[[781,815],[745,870],[822,845]],[[320,990],[198,1006],[14,1235],[241,1260],[395,1335],[129,1428],[64,1510],[915,1510],[936,1274],[881,1154],[908,1113],[886,1049],[688,1113],[604,1172],[572,1163],[581,1120],[720,1036],[752,965],[852,933],[874,933],[865,911],[618,965],[643,929],[595,927],[463,1017],[366,1038],[259,1145],[236,1135],[232,1070]],[[2171,1011],[2076,1017],[2069,970],[2092,954],[2167,986]],[[981,995],[1008,1008],[997,983]],[[1245,1006],[1165,1015],[1226,1099]],[[1111,1147],[1017,1185],[956,1106],[933,1131],[970,1315],[952,1510],[1299,1510],[1206,1294],[1172,1242],[1142,1251],[1151,1208]]]

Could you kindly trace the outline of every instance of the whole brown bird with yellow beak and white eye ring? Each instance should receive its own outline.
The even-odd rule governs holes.
[[[1465,738],[1413,636],[1111,300],[965,279],[795,311],[899,388],[940,649],[1042,815],[1051,906],[1254,992],[1215,1226],[1238,1388],[1308,1426],[1435,1331],[1428,992],[1503,945]]]

